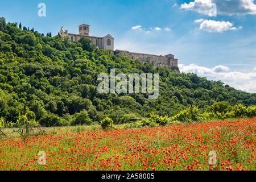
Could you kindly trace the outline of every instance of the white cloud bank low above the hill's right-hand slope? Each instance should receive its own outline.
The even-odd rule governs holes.
[[[196,73],[199,76],[207,77],[209,80],[221,80],[236,89],[256,93],[256,72],[242,73],[229,71],[229,68],[224,65],[207,68],[196,64],[180,64],[179,68],[181,72]]]

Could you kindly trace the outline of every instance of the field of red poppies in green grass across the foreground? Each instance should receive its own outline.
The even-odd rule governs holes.
[[[255,170],[256,118],[0,138],[0,170]]]

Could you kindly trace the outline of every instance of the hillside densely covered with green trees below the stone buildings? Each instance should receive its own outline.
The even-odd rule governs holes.
[[[152,111],[171,116],[190,104],[204,110],[216,101],[256,105],[256,94],[221,81],[154,68],[94,49],[86,41],[71,44],[50,36],[0,19],[0,117],[7,121],[16,121],[24,105],[30,117],[44,126],[79,124],[80,117],[99,121],[105,115],[121,123]],[[112,68],[123,73],[159,73],[158,100],[149,101],[143,94],[99,94],[97,76]]]

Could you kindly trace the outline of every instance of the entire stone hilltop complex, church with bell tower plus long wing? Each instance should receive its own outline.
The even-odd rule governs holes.
[[[89,38],[92,44],[96,47],[100,49],[111,50],[115,55],[126,55],[133,60],[147,61],[155,67],[168,67],[180,73],[178,60],[174,58],[174,55],[168,54],[166,56],[158,56],[147,53],[123,51],[119,49],[114,51],[114,38],[109,34],[102,38],[97,36],[90,36],[90,26],[88,24],[81,24],[79,26],[79,34],[71,34],[68,32],[68,30],[64,30],[63,27],[61,27],[59,34],[61,37],[68,36],[72,43],[78,41],[82,37]]]

